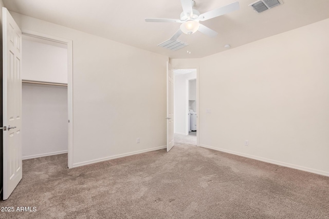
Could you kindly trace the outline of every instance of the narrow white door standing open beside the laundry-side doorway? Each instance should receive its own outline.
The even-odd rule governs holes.
[[[167,62],[167,152],[174,147],[174,71]]]

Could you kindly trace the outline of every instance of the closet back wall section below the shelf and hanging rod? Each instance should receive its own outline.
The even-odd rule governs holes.
[[[67,152],[67,87],[24,84],[23,159]]]

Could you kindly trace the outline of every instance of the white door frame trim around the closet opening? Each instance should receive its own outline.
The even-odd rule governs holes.
[[[58,36],[52,36],[40,32],[22,29],[22,34],[36,38],[46,39],[57,43],[67,45],[67,103],[68,103],[68,147],[67,147],[67,166],[73,167],[73,41]]]

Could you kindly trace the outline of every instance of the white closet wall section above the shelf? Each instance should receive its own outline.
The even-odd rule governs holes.
[[[67,49],[23,36],[22,79],[67,84]]]

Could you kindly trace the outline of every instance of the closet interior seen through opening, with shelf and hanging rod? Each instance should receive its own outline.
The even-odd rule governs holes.
[[[71,108],[68,46],[23,33],[23,160],[68,153]]]

